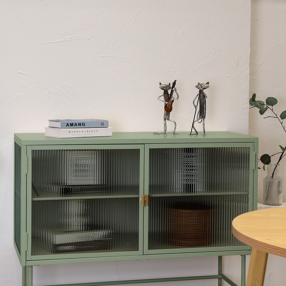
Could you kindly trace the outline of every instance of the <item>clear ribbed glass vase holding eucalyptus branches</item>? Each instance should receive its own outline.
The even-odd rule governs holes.
[[[267,176],[263,180],[263,203],[282,204],[282,179],[279,177],[279,164],[267,165]]]

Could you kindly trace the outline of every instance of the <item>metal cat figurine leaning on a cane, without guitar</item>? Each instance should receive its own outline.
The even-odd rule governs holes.
[[[206,130],[204,128],[204,120],[206,118],[206,94],[204,93],[204,90],[209,88],[209,82],[207,82],[206,84],[200,84],[198,83],[196,86],[196,88],[199,89],[199,92],[197,94],[197,96],[195,97],[194,101],[193,101],[193,105],[195,107],[195,109],[197,110],[198,105],[199,105],[199,110],[198,110],[198,114],[197,114],[197,119],[196,118],[196,110],[195,110],[195,115],[194,115],[194,120],[193,120],[193,124],[192,124],[192,128],[191,128],[191,132],[189,135],[195,135],[198,134],[198,131],[196,131],[196,128],[194,128],[194,123],[198,122],[201,123],[202,122],[202,128],[204,130],[204,133],[202,135],[206,135]],[[198,97],[198,101],[197,104],[195,105],[195,100]],[[192,134],[192,129],[194,128],[194,131],[196,133]]]

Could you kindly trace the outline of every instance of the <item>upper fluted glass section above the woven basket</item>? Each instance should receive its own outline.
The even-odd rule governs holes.
[[[250,147],[149,150],[149,194],[249,192]]]

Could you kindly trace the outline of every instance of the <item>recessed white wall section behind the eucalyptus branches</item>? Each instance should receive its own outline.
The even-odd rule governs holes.
[[[274,106],[278,116],[286,110],[286,1],[251,0],[251,50],[249,96],[265,101],[269,96],[277,98]],[[280,152],[279,145],[285,147],[286,134],[268,110],[261,116],[257,108],[249,110],[249,135],[259,137],[259,157],[262,154]],[[272,162],[278,161],[277,156]],[[260,163],[260,167],[263,165]],[[286,160],[280,162],[280,176],[283,179],[283,202],[286,201]],[[263,201],[263,178],[267,175],[258,171],[258,201]],[[286,259],[270,255],[268,259],[265,286],[286,285]]]

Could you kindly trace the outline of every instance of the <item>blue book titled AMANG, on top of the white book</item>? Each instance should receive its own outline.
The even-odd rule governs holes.
[[[105,119],[49,119],[53,128],[102,128],[108,127]]]

